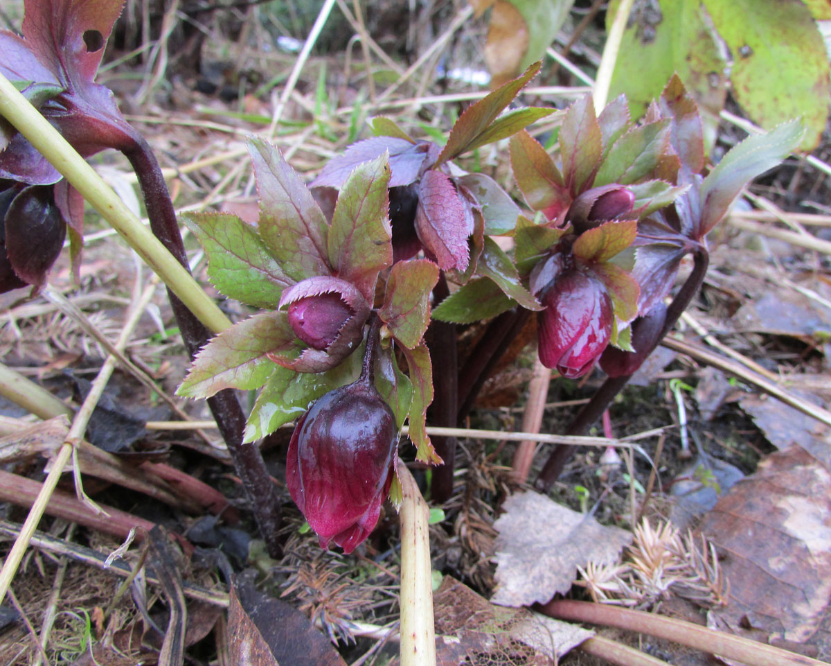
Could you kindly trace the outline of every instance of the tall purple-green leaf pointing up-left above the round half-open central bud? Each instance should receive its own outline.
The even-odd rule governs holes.
[[[328,275],[328,226],[297,172],[266,141],[251,139],[248,152],[260,198],[259,234],[283,273],[295,282]]]

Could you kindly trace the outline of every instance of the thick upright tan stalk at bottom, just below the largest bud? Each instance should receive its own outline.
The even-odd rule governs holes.
[[[430,512],[410,470],[399,461],[401,520],[401,666],[435,666]]]

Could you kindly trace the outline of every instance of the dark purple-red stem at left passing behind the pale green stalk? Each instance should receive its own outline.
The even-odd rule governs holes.
[[[173,202],[170,200],[165,177],[161,173],[153,151],[150,150],[150,146],[143,137],[136,135],[134,145],[123,152],[130,160],[130,165],[139,180],[147,216],[150,218],[150,229],[170,254],[179,260],[179,264],[189,269]],[[173,308],[185,347],[188,349],[190,358],[193,358],[194,354],[208,342],[211,333],[170,289],[168,289],[168,298],[170,298],[170,306]],[[239,406],[237,397],[230,389],[209,397],[208,406],[228,446],[229,454],[234,461],[234,469],[248,493],[254,519],[268,546],[269,555],[278,557],[281,553],[278,542],[281,522],[280,503],[259,447],[254,442],[243,444],[245,415],[242,407]]]

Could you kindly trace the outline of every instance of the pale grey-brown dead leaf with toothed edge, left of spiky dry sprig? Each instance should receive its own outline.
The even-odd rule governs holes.
[[[504,509],[494,523],[499,531],[495,604],[544,604],[568,591],[578,565],[612,564],[632,540],[626,530],[605,527],[536,492],[509,497]]]

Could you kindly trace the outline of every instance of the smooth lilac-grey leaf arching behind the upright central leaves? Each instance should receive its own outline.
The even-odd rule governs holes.
[[[376,136],[349,146],[343,155],[329,160],[310,187],[334,187],[338,190],[347,182],[358,165],[375,160],[385,153],[390,160],[390,187],[410,185],[418,180],[425,160],[430,159],[431,144],[413,143],[409,138]]]

